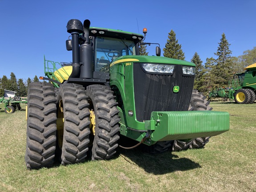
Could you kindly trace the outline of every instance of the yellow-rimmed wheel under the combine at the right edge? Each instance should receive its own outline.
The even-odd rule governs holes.
[[[252,104],[256,100],[255,92],[251,89],[239,89],[235,93],[235,101],[237,104]]]

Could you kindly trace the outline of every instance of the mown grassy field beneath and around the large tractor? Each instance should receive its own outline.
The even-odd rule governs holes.
[[[212,102],[230,113],[230,130],[204,149],[158,155],[119,150],[116,158],[27,170],[25,111],[0,105],[0,191],[256,192],[256,103]]]

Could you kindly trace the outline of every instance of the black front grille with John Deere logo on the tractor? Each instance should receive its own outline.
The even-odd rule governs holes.
[[[139,63],[133,64],[136,119],[150,120],[152,111],[187,111],[194,77],[183,76],[182,66],[176,65],[173,75],[145,73]],[[173,92],[179,86],[180,91]]]

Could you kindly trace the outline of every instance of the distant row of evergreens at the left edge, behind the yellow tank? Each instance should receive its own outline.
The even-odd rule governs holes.
[[[39,81],[37,76],[35,76],[33,80],[28,77],[28,79],[24,82],[23,79],[17,80],[13,72],[11,72],[10,79],[4,75],[2,78],[0,78],[0,97],[4,96],[4,89],[16,92],[16,96],[27,96],[28,85],[31,82],[37,81]]]

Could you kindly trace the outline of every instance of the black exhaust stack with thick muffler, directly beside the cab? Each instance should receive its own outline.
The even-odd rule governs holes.
[[[84,20],[85,42],[80,45],[80,78],[93,78],[93,48],[89,39],[90,24],[89,20]]]

